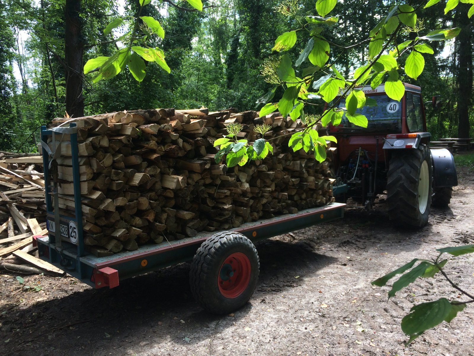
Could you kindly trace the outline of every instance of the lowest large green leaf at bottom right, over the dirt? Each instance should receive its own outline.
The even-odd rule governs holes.
[[[419,336],[443,322],[449,316],[451,308],[451,303],[446,298],[415,305],[410,309],[410,314],[401,319],[401,330],[407,335]]]

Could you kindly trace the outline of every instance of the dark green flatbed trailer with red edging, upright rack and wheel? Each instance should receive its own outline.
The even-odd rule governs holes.
[[[253,243],[344,215],[345,204],[331,203],[246,223],[217,234],[200,233],[170,242],[165,239],[161,244],[142,245],[136,251],[97,257],[86,251],[83,240],[76,132],[74,123],[68,128],[41,128],[48,235],[35,237],[35,241],[41,259],[94,288],[114,288],[126,278],[192,260],[190,279],[194,297],[210,312],[228,313],[244,305],[255,290],[260,263]],[[71,139],[75,202],[71,216],[59,215],[59,209],[54,209],[58,206],[57,177],[51,175],[56,174],[57,155],[47,146],[48,137],[53,137],[54,141],[59,140],[53,147],[60,150],[63,134],[70,135]],[[57,226],[60,228],[56,229]],[[56,238],[57,235],[61,238]]]

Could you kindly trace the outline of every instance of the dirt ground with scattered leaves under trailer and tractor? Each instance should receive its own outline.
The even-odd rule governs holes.
[[[370,281],[444,246],[474,244],[474,172],[458,169],[450,208],[420,231],[388,223],[385,204],[348,207],[326,225],[258,244],[260,278],[250,302],[223,317],[192,299],[190,265],[94,290],[74,278],[0,275],[0,355],[428,355],[474,356],[474,309],[427,331],[409,347],[400,321],[415,302],[456,298],[442,278],[418,280],[387,301]],[[474,256],[447,263],[473,292]]]

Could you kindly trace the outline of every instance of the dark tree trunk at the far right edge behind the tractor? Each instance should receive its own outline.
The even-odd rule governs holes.
[[[459,89],[458,107],[458,133],[459,138],[469,136],[469,107],[473,84],[472,72],[472,29],[470,21],[466,21],[467,7],[460,4],[456,9],[455,21],[461,28],[456,37],[457,49],[457,83]]]

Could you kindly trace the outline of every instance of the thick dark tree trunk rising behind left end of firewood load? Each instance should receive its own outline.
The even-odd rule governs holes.
[[[84,43],[81,38],[82,20],[80,0],[66,0],[65,46],[66,59],[66,112],[70,117],[84,116],[82,97],[82,54]]]

